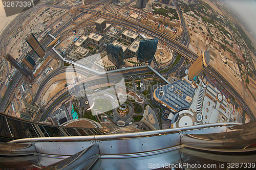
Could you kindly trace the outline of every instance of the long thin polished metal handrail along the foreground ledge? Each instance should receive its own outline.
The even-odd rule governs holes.
[[[86,140],[115,140],[121,138],[138,138],[138,137],[147,137],[147,136],[158,136],[166,135],[172,133],[178,133],[182,131],[190,130],[199,130],[202,128],[210,127],[220,127],[220,126],[236,126],[242,125],[240,123],[215,123],[215,124],[204,124],[204,125],[195,125],[174,129],[164,129],[156,131],[145,131],[145,132],[135,132],[135,133],[125,133],[125,134],[109,134],[109,135],[91,135],[91,136],[61,136],[61,137],[35,137],[35,138],[25,138],[9,141],[8,143],[23,143],[23,142],[41,142],[41,141],[86,141]]]

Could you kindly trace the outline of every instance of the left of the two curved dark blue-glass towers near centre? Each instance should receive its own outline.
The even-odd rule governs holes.
[[[118,68],[123,65],[123,49],[122,47],[114,44],[106,45],[106,53],[108,58],[112,61]]]

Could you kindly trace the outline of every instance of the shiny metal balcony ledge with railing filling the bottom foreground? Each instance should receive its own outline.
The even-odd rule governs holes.
[[[227,163],[254,163],[256,160],[256,122],[244,125],[206,124],[132,133],[119,133],[123,131],[122,128],[127,129],[121,127],[104,134],[104,131],[98,131],[101,134],[96,135],[92,132],[96,132],[97,128],[55,127],[5,115],[0,117],[6,117],[11,131],[13,127],[29,131],[32,127],[35,134],[40,136],[65,134],[23,138],[3,144],[0,157],[5,157],[5,162],[0,161],[1,168],[14,167],[17,163],[23,163],[25,168],[48,166],[45,167],[47,169],[155,169],[180,164],[189,168],[189,164],[195,163],[202,166],[224,163],[227,168]],[[1,120],[3,122],[5,118]],[[82,132],[87,136],[80,136]],[[78,133],[80,135],[76,135]],[[92,135],[88,135],[90,133]],[[13,165],[10,166],[12,161]],[[219,167],[213,169],[216,168]]]

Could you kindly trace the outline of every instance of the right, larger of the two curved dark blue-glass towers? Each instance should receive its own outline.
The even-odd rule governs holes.
[[[151,64],[151,61],[157,50],[157,43],[158,39],[147,39],[140,41],[137,60]]]

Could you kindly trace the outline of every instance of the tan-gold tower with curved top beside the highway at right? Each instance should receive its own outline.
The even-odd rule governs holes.
[[[209,65],[210,53],[209,51],[204,51],[202,55],[189,67],[188,69],[188,79],[192,80],[196,77],[205,67]]]

